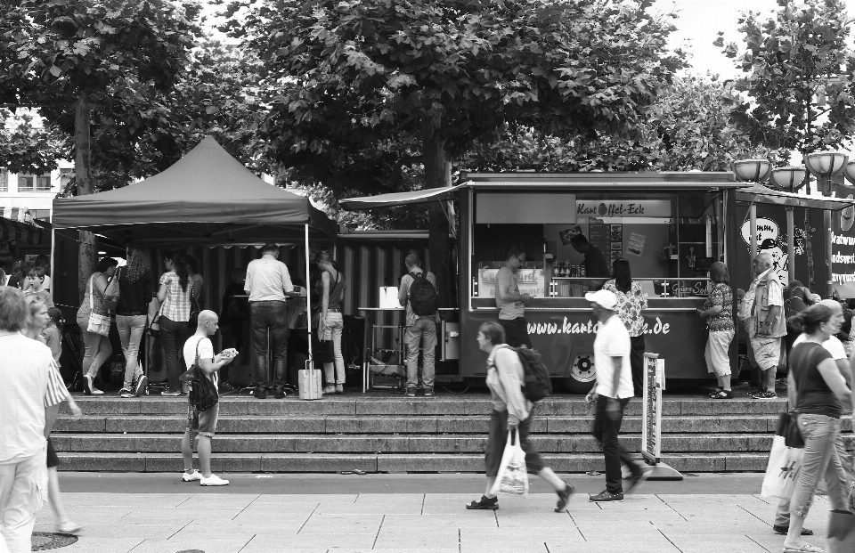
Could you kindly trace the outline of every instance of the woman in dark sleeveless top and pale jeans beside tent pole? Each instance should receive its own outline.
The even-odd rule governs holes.
[[[341,316],[341,296],[346,289],[345,279],[338,270],[338,264],[332,260],[329,251],[318,252],[314,263],[321,270],[321,319],[318,323],[318,338],[332,340],[333,362],[324,359],[323,373],[327,386],[324,394],[344,394],[345,358],[341,354],[341,331],[344,320]],[[335,371],[333,371],[335,366]]]

